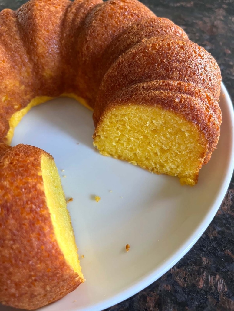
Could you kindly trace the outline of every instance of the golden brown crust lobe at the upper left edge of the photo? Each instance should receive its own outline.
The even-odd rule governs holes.
[[[7,120],[34,97],[35,77],[12,10],[0,12],[0,138],[6,136]]]

